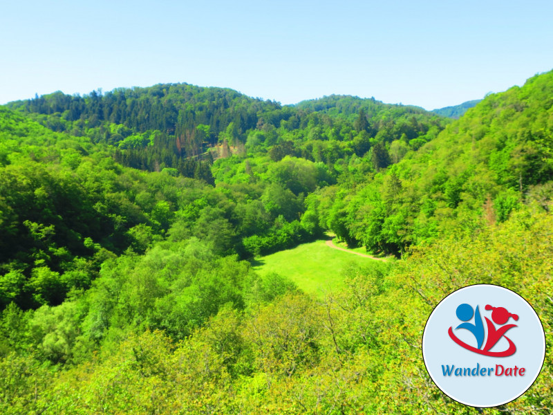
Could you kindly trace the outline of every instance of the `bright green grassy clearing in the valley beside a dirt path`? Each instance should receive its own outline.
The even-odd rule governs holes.
[[[326,246],[321,239],[296,248],[259,257],[252,265],[261,275],[277,273],[292,279],[305,293],[323,297],[344,287],[344,270],[351,264],[367,266],[375,261]]]

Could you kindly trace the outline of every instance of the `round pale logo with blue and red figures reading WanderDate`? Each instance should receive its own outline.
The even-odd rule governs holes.
[[[545,333],[520,295],[500,286],[467,286],[432,311],[422,357],[444,394],[465,405],[495,407],[532,386],[545,359]]]

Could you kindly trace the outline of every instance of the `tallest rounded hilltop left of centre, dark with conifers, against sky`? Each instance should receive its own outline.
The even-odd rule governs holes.
[[[215,140],[231,122],[238,131],[244,132],[256,127],[260,114],[282,109],[277,102],[250,98],[232,89],[189,84],[120,88],[104,94],[92,91],[84,96],[56,92],[33,100],[10,102],[8,107],[27,113],[54,115],[59,124],[48,127],[57,130],[75,127],[70,122],[77,122],[76,127],[81,128],[110,122],[123,124],[140,133],[158,130],[175,135],[206,124],[210,127],[209,138]]]

